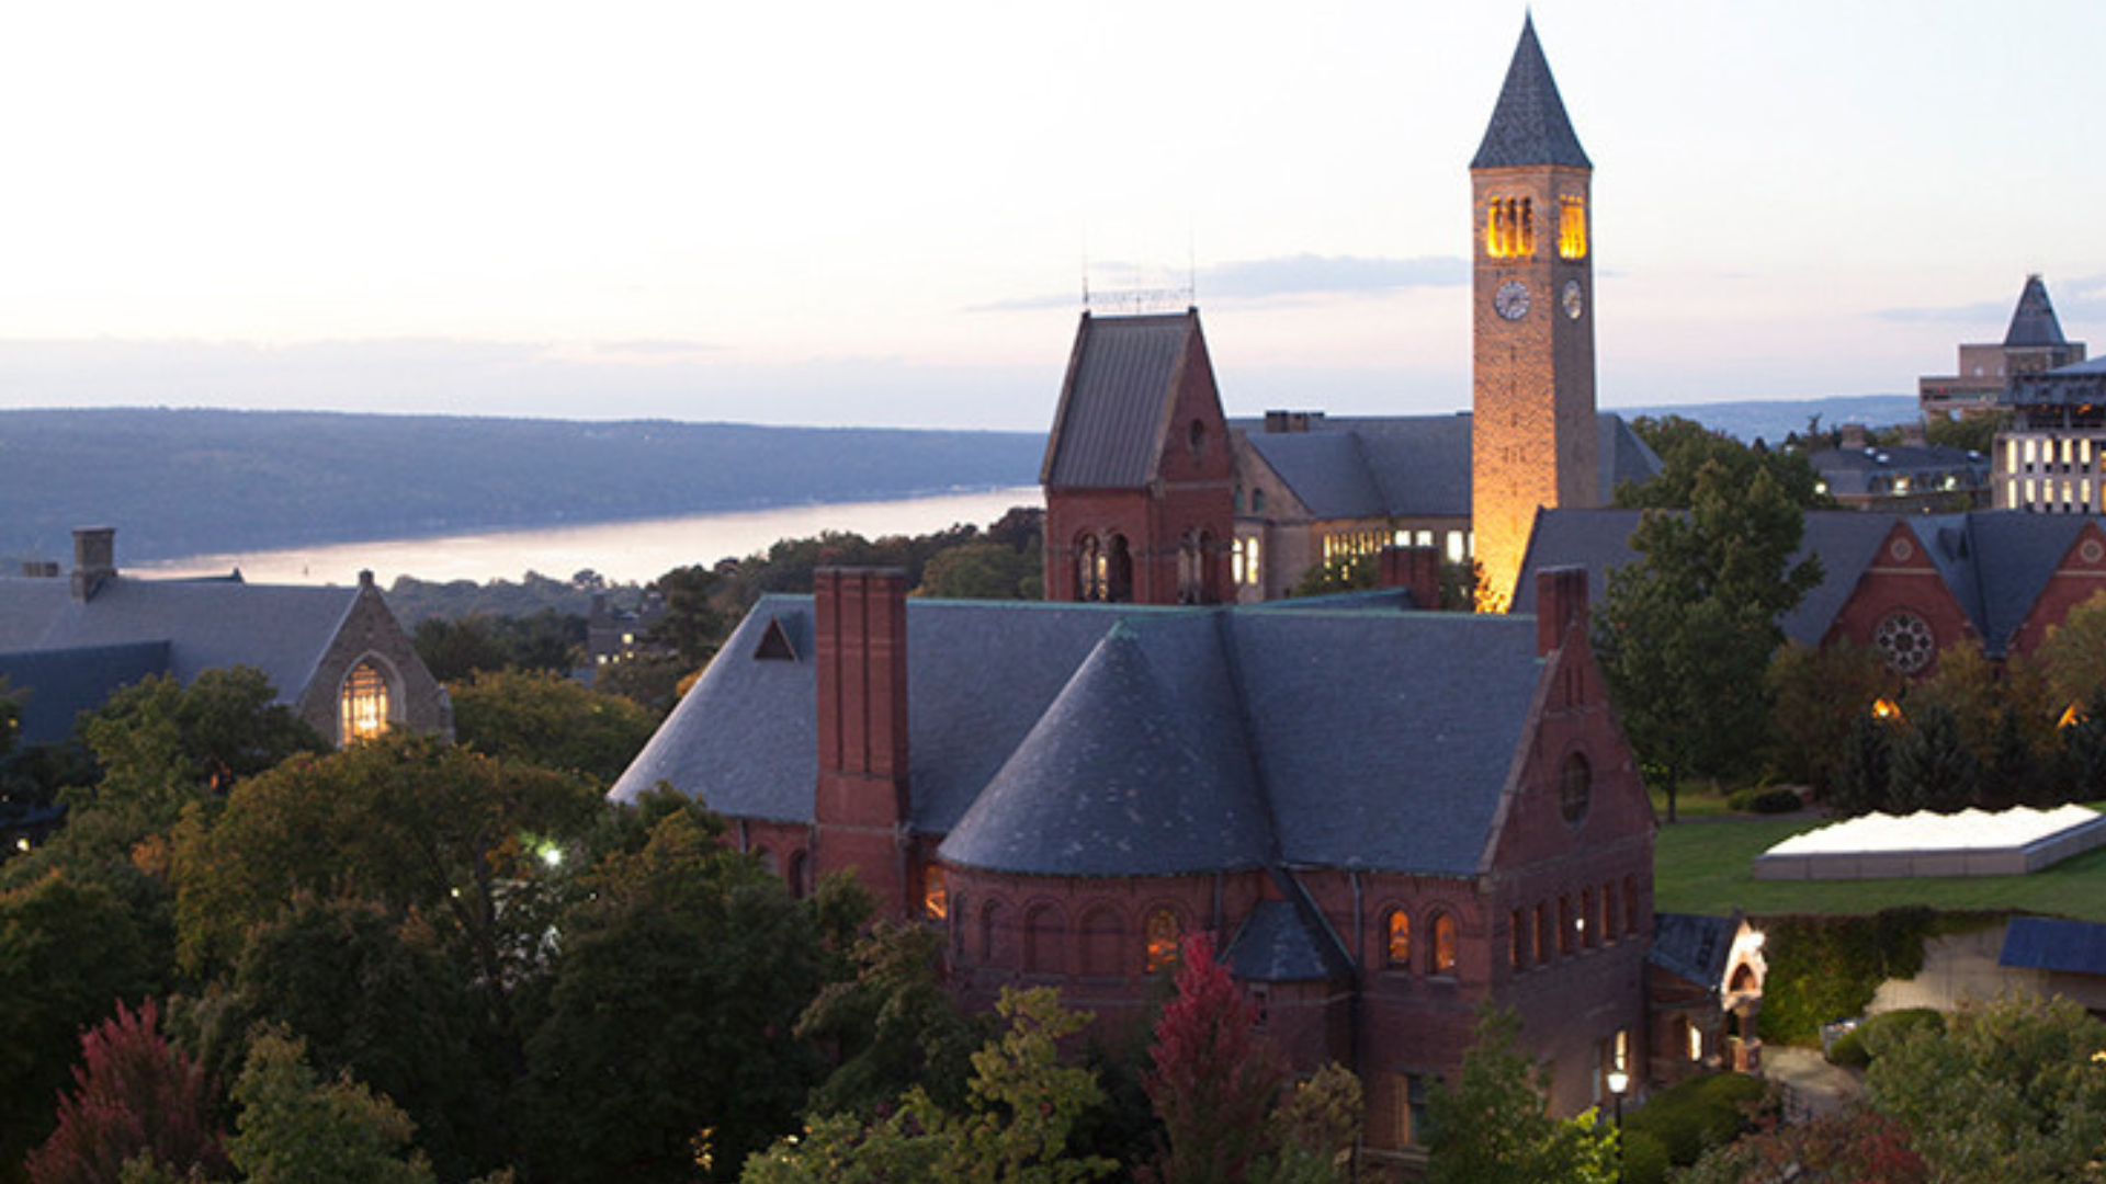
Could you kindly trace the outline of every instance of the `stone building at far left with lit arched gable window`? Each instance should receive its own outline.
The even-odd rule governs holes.
[[[116,531],[74,531],[74,571],[0,577],[0,678],[27,691],[23,744],[72,733],[74,716],[147,674],[190,683],[253,666],[333,744],[388,727],[451,733],[446,691],[388,611],[373,573],[356,588],[139,579],[116,565]]]

